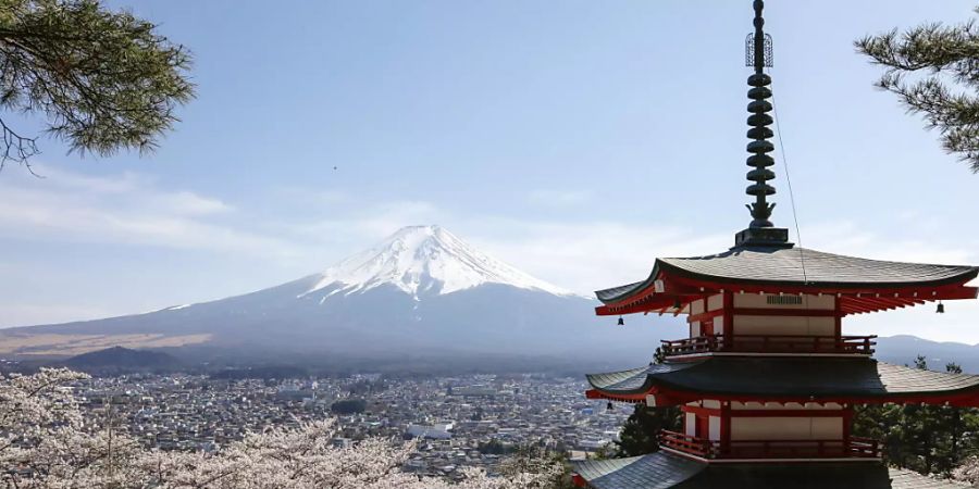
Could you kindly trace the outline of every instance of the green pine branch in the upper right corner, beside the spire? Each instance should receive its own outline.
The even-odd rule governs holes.
[[[979,12],[979,9],[977,9]],[[884,67],[877,86],[938,129],[945,150],[979,173],[979,26],[928,23],[867,36],[857,51]]]

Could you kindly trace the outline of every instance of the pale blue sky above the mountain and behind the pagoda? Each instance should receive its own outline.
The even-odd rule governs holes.
[[[852,46],[974,2],[767,3],[803,243],[979,264],[979,176]],[[749,221],[747,0],[112,5],[191,49],[198,98],[153,154],[44,140],[46,178],[0,174],[0,326],[247,292],[411,224],[588,291],[723,250]],[[979,342],[975,304],[848,324]]]

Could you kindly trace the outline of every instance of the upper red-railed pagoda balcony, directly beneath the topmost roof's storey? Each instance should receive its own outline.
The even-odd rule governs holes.
[[[662,340],[666,356],[704,353],[806,353],[871,355],[872,336],[734,335]]]

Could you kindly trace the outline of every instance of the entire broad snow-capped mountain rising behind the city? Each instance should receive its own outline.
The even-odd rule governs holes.
[[[615,326],[595,301],[496,260],[438,226],[406,227],[313,275],[146,314],[0,330],[0,354],[109,347],[648,360],[664,330]],[[630,322],[639,323],[639,322]],[[672,331],[677,333],[677,331]]]

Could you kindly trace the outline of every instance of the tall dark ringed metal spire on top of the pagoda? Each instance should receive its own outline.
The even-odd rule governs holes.
[[[771,66],[771,36],[765,34],[765,17],[761,15],[765,9],[764,0],[754,0],[755,32],[748,34],[745,40],[745,64],[755,68],[755,73],[748,77],[747,110],[752,114],[747,118],[751,129],[747,137],[747,151],[751,156],[747,165],[752,170],[747,173],[747,179],[752,183],[745,190],[748,196],[755,197],[755,202],[747,204],[752,213],[752,223],[748,228],[741,231],[735,246],[785,246],[789,241],[786,229],[776,228],[771,223],[771,210],[774,203],[768,202],[768,196],[774,195],[774,187],[768,185],[768,180],[774,178],[774,172],[769,170],[774,165],[774,159],[769,155],[774,151],[774,145],[769,138],[774,136],[771,124],[774,122],[769,115],[772,106],[768,99],[771,98],[771,77],[765,73],[766,67]],[[788,244],[791,246],[791,244]]]

